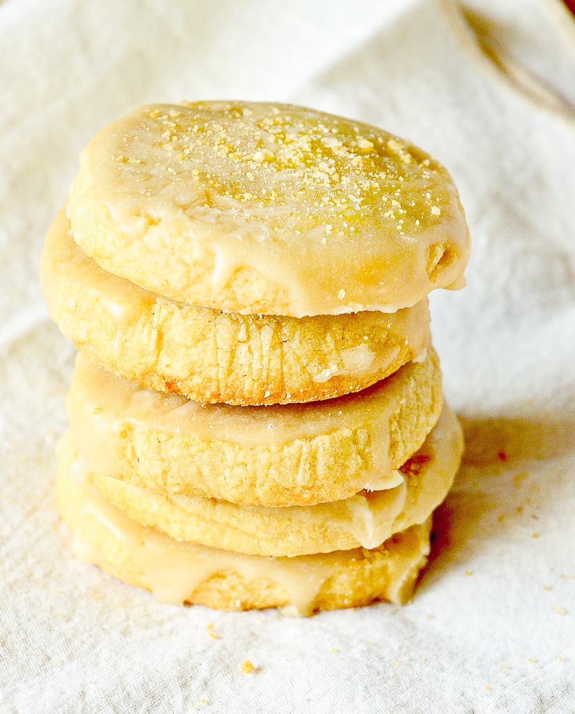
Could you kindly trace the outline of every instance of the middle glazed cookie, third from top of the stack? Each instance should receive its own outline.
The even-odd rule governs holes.
[[[259,506],[340,501],[392,488],[441,412],[430,348],[364,391],[309,404],[201,405],[144,388],[81,353],[66,398],[89,470],[166,495]]]

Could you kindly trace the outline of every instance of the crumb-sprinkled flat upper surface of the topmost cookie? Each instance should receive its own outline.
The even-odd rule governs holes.
[[[353,234],[364,221],[411,236],[441,220],[451,200],[445,170],[421,149],[296,106],[152,105],[117,139],[122,151],[109,159],[141,184],[141,194],[154,195],[158,182],[196,183],[208,208],[281,216],[282,228],[272,220],[273,230],[320,229],[322,242]]]

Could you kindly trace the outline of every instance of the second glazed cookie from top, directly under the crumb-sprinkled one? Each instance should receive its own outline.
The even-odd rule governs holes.
[[[292,318],[177,303],[102,270],[64,211],[46,236],[41,284],[51,316],[92,361],[201,402],[274,404],[359,391],[419,357],[426,299],[396,313]]]

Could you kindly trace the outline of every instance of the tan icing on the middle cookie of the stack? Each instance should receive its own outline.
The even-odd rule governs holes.
[[[142,388],[97,368],[79,354],[66,398],[66,409],[76,443],[86,463],[92,471],[102,476],[117,477],[119,468],[128,468],[126,458],[133,459],[134,448],[142,439],[146,439],[146,443],[161,443],[169,438],[176,444],[174,449],[184,448],[187,453],[198,443],[212,449],[232,443],[243,450],[242,458],[249,461],[256,458],[252,455],[255,452],[250,451],[253,449],[261,451],[261,448],[269,448],[270,458],[274,458],[274,454],[279,453],[279,449],[286,444],[334,433],[342,433],[350,438],[356,434],[354,438],[364,439],[366,443],[369,441],[369,457],[364,457],[361,463],[356,462],[356,473],[347,477],[345,495],[351,495],[350,491],[354,493],[366,487],[371,490],[393,488],[399,483],[400,478],[390,463],[389,419],[399,406],[419,398],[414,393],[414,385],[420,371],[429,375],[431,370],[434,379],[439,375],[430,360],[431,357],[428,357],[426,363],[421,365],[409,363],[375,386],[349,396],[311,404],[234,407],[201,405],[178,395]],[[419,410],[428,412],[426,418],[433,418],[434,414],[436,418],[439,417],[439,380],[426,399],[431,403],[424,403],[419,398]],[[423,442],[426,431],[421,434],[421,441],[415,448]],[[159,468],[167,471],[169,467],[177,471],[177,462],[166,463],[177,458],[176,451],[171,450],[169,458],[161,458]],[[138,468],[138,459],[136,454],[135,461],[130,461],[130,468],[134,468],[134,464]],[[249,468],[251,464],[248,464]],[[300,468],[305,476],[303,469],[307,467],[303,459]],[[126,475],[122,473],[121,476]],[[196,469],[196,481],[199,476]],[[161,478],[165,481],[164,476]],[[293,488],[296,488],[300,475],[295,473],[290,478],[294,480]],[[330,473],[329,478],[333,481],[334,473]],[[206,474],[206,481],[212,484],[214,477]],[[195,492],[202,493],[201,484],[194,483],[194,488],[196,486],[198,490]],[[205,490],[203,493],[234,501],[227,494]],[[315,503],[321,500],[318,498]],[[306,501],[313,502],[311,498]],[[290,505],[290,501],[260,503]]]

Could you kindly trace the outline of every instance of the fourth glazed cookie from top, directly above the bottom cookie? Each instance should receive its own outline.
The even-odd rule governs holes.
[[[307,555],[376,548],[394,533],[423,523],[454,480],[463,439],[456,416],[444,405],[423,446],[399,468],[405,481],[384,491],[361,491],[317,506],[238,506],[199,496],[162,496],[108,476],[88,475],[68,433],[60,458],[86,472],[106,501],[142,526],[175,540],[251,555]]]

